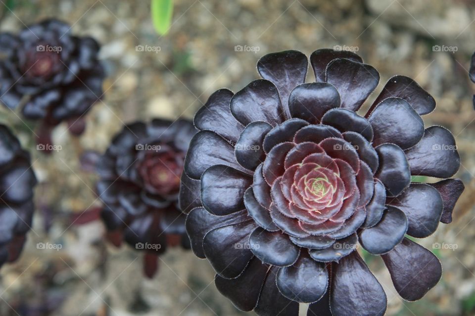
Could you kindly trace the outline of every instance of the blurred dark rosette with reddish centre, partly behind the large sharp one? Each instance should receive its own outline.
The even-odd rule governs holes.
[[[135,122],[118,133],[97,162],[96,188],[109,239],[122,239],[145,252],[144,271],[152,277],[156,255],[168,245],[190,247],[185,214],[178,207],[180,176],[193,123],[154,119]]]

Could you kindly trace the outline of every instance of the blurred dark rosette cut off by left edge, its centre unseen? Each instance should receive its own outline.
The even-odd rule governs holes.
[[[31,229],[36,177],[28,152],[0,124],[0,266],[18,259]]]

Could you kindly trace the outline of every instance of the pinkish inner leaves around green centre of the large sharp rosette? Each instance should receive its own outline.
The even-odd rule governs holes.
[[[285,215],[282,220],[294,221],[292,225],[310,235],[323,236],[339,229],[357,212],[361,197],[355,148],[336,137],[285,144],[290,149],[268,156],[263,172],[272,188],[272,203]],[[273,177],[266,177],[268,174]]]

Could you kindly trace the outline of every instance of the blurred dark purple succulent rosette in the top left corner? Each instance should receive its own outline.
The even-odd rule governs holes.
[[[71,34],[57,20],[30,25],[18,35],[0,34],[0,102],[23,106],[25,118],[42,120],[39,143],[66,120],[75,135],[84,131],[84,115],[102,97],[104,69],[99,44]]]

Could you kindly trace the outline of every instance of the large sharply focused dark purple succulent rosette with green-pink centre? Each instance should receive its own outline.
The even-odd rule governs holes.
[[[406,238],[449,223],[458,179],[452,134],[425,128],[434,99],[414,80],[386,83],[359,116],[379,73],[351,52],[320,49],[262,57],[263,79],[216,91],[194,118],[180,204],[194,253],[243,311],[383,315],[386,295],[355,251],[381,255],[402,298],[417,300],[441,276],[439,260]]]

